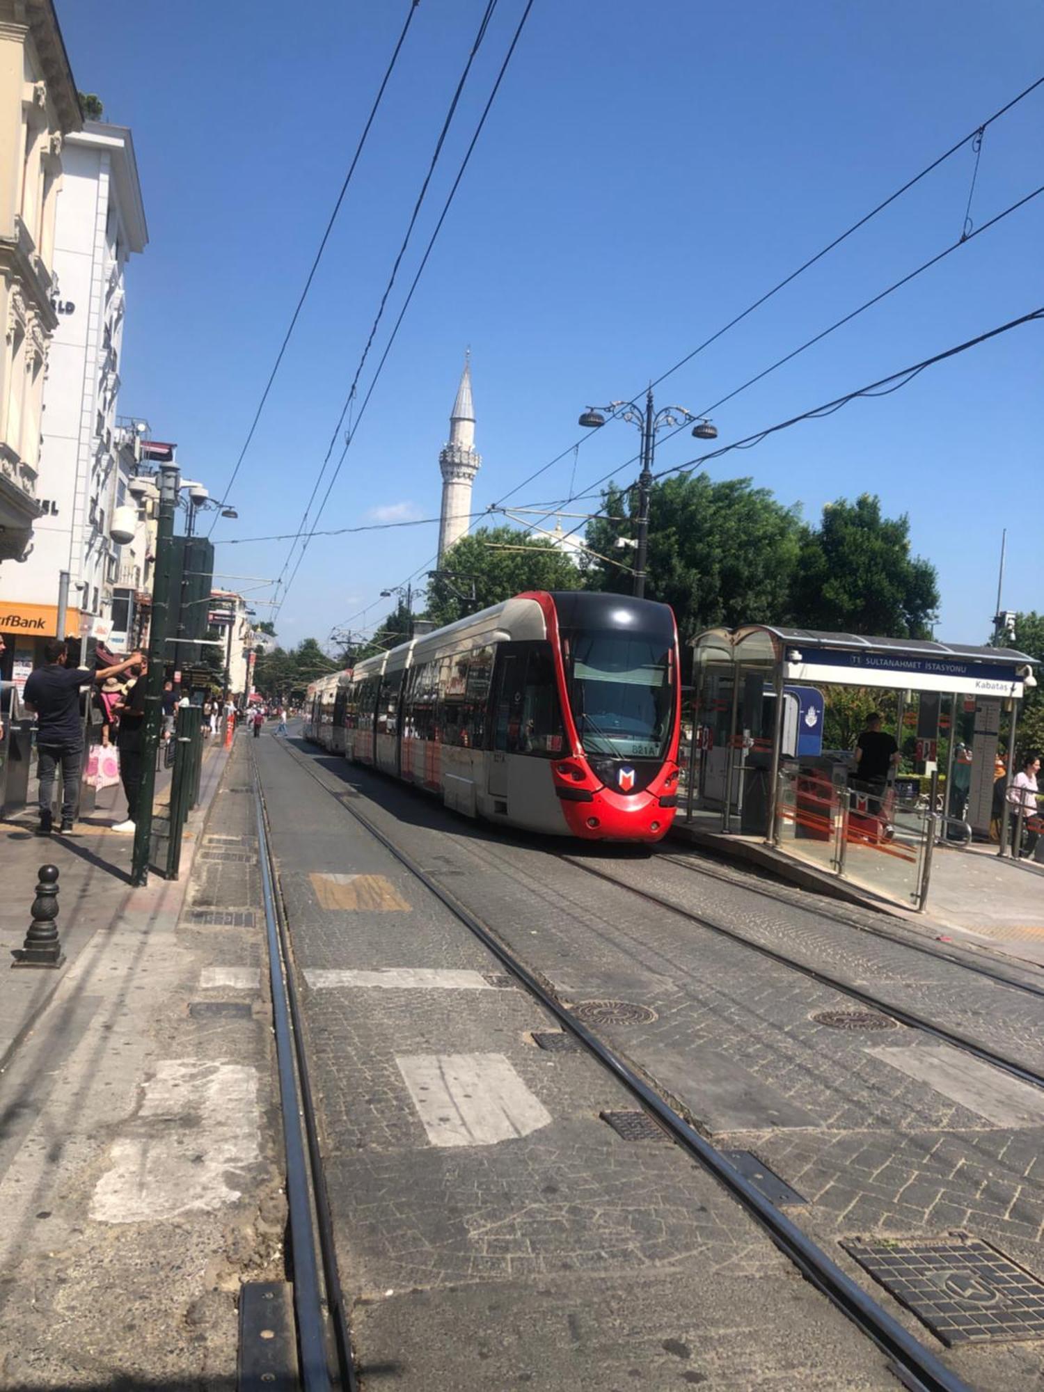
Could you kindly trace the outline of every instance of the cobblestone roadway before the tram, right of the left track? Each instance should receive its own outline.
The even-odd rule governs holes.
[[[284,754],[284,761],[290,759]],[[507,837],[342,760],[322,777],[550,980],[568,1002],[644,1005],[654,1019],[601,1026],[722,1147],[748,1148],[799,1190],[792,1215],[838,1251],[842,1237],[970,1231],[1044,1275],[1044,1105],[1034,1089],[892,1025],[838,1030],[813,1016],[851,998],[585,876],[561,846]],[[569,848],[571,853],[575,848]],[[633,852],[587,852],[611,874],[880,991],[1030,1066],[1044,1063],[1041,1001],[857,933],[817,902],[782,903]],[[885,1023],[885,1022],[883,1022]],[[873,1051],[873,1052],[871,1052]],[[974,1076],[986,1069],[986,1079]],[[926,1080],[931,1079],[931,1084]],[[852,1268],[853,1271],[856,1268]],[[866,1279],[880,1296],[880,1288]],[[926,1331],[910,1320],[919,1334]],[[972,1385],[1044,1386],[1044,1345],[963,1345]]]

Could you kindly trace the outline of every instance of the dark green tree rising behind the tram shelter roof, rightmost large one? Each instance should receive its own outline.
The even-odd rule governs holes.
[[[881,515],[863,493],[823,509],[806,528],[793,582],[793,621],[834,633],[930,638],[938,608],[935,567],[910,555],[910,522]]]

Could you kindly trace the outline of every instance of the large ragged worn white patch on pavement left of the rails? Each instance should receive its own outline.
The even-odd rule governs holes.
[[[161,1222],[232,1204],[235,1171],[260,1158],[258,1070],[244,1063],[166,1059],[113,1143],[90,1201],[96,1222]]]

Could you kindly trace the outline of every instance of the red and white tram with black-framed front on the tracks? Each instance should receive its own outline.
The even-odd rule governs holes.
[[[665,604],[532,592],[316,682],[305,735],[470,817],[658,841],[679,714]]]

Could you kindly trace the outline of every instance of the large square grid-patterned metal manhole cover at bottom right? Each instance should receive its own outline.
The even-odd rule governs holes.
[[[948,1346],[1044,1336],[1044,1283],[979,1237],[841,1246]]]

